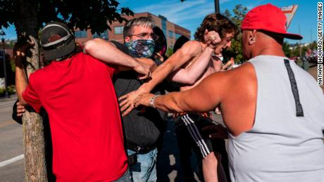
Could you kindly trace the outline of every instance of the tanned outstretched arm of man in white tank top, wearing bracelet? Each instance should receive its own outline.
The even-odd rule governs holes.
[[[221,102],[226,87],[222,85],[224,80],[223,73],[211,74],[193,89],[156,97],[153,105],[165,112],[208,112]],[[137,105],[153,106],[150,105],[152,96],[151,93],[141,94]]]

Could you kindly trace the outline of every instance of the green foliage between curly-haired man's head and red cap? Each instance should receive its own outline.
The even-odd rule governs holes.
[[[237,27],[240,27],[244,16],[247,14],[247,7],[243,7],[239,4],[235,6],[235,8],[232,10],[232,13],[230,13],[229,10],[225,10],[224,15],[232,22],[234,22]],[[237,37],[232,39],[232,46],[228,48],[228,50],[223,51],[224,60],[230,60],[230,58],[234,58],[236,63],[243,63],[246,61],[242,56],[241,37],[242,34],[239,33]]]

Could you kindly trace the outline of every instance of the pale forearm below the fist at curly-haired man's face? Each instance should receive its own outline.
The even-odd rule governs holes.
[[[213,48],[206,47],[197,60],[192,63],[192,65],[175,72],[175,74],[173,74],[171,77],[171,80],[181,84],[194,84],[194,82],[201,77],[204,70],[206,70],[208,63],[211,60],[211,54],[213,51]]]

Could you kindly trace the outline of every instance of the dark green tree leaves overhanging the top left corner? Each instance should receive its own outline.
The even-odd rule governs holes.
[[[73,27],[80,30],[91,29],[92,33],[101,33],[107,29],[111,30],[107,22],[123,22],[125,18],[120,14],[134,15],[129,8],[118,8],[118,5],[116,0],[2,0],[0,1],[0,26],[15,25],[23,18],[36,18],[38,30],[44,23],[56,20],[66,22],[71,29]],[[16,25],[15,27],[17,28]]]

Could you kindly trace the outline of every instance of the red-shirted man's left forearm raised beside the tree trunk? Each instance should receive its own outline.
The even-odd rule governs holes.
[[[26,87],[27,87],[27,78],[26,78],[26,74],[25,74],[23,65],[16,64],[16,66],[15,66],[15,89],[17,91],[19,102],[22,105],[27,104],[25,102],[25,100],[23,99],[23,91],[25,91]]]

